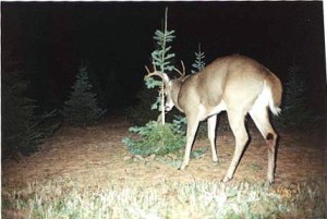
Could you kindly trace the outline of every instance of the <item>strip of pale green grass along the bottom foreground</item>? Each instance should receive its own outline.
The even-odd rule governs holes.
[[[2,187],[2,218],[326,218],[327,178],[300,184],[162,180],[80,187],[74,180]]]

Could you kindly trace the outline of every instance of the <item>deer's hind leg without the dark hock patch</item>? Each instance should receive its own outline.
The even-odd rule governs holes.
[[[233,174],[240,162],[244,147],[249,141],[249,136],[244,125],[244,117],[245,114],[241,111],[233,111],[233,110],[228,111],[229,124],[235,137],[235,150],[234,150],[234,156],[232,158],[232,161],[229,166],[229,169],[222,182],[228,182],[233,178]]]

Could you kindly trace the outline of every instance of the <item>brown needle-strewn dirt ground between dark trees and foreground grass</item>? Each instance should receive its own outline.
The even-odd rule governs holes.
[[[204,157],[192,159],[186,170],[154,158],[135,159],[122,144],[130,136],[130,124],[120,118],[109,118],[92,127],[63,125],[41,149],[20,162],[2,162],[2,186],[17,187],[26,182],[48,179],[70,179],[81,186],[137,184],[152,186],[162,180],[187,182],[193,180],[220,181],[231,161],[234,149],[232,133],[217,132],[218,166],[211,165],[208,149]],[[256,129],[250,127],[251,144],[237,169],[234,181],[265,181],[267,148]],[[301,182],[326,175],[327,147],[322,135],[280,133],[276,183]],[[208,147],[208,139],[195,142],[194,148]]]

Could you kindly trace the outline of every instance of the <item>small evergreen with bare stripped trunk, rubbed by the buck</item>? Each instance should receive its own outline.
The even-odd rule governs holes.
[[[157,49],[152,53],[153,64],[159,72],[170,72],[174,69],[171,63],[174,53],[171,53],[171,46],[168,42],[172,42],[175,38],[174,31],[167,29],[167,13],[165,13],[165,28],[162,31],[156,31],[154,39],[156,40]],[[147,78],[145,82],[147,88],[154,88],[160,86],[160,93],[155,104],[152,105],[152,109],[159,109],[161,117],[157,121],[149,121],[144,126],[132,126],[130,132],[140,135],[140,139],[132,139],[125,137],[122,142],[128,146],[129,150],[135,155],[148,156],[166,155],[169,153],[175,153],[185,144],[184,132],[179,121],[174,120],[174,123],[165,122],[165,95],[164,84],[161,81],[155,78]],[[144,94],[143,94],[144,95]],[[148,99],[146,99],[148,100]],[[161,107],[159,107],[161,106]],[[162,110],[161,110],[162,109]]]

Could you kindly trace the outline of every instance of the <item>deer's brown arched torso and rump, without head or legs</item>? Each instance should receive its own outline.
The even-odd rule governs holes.
[[[269,70],[255,60],[239,54],[218,58],[202,72],[183,82],[178,102],[185,113],[194,111],[198,106],[214,109],[221,102],[228,108],[249,110],[263,92],[265,83],[277,87],[272,95],[276,94],[276,104],[279,105],[280,82]]]

